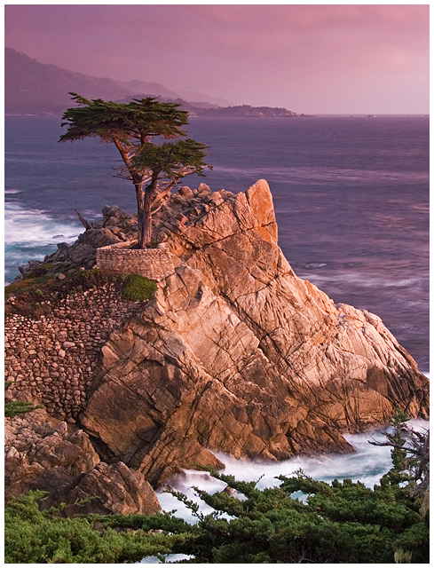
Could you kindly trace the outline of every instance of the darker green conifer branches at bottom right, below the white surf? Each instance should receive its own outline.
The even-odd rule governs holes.
[[[189,550],[196,562],[383,564],[394,562],[398,548],[411,551],[413,562],[429,562],[429,530],[405,489],[369,489],[350,479],[330,486],[299,473],[259,491],[254,483],[213,476],[247,499],[198,491],[210,507],[234,518],[200,518]],[[294,499],[295,492],[306,493],[306,502]]]

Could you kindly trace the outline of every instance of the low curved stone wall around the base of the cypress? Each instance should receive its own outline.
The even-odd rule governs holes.
[[[165,248],[125,248],[116,243],[97,248],[97,266],[108,275],[140,274],[149,280],[162,280],[175,272],[177,256]]]

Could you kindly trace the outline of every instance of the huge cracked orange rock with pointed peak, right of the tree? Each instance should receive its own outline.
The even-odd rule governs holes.
[[[366,311],[300,280],[272,194],[181,188],[154,221],[181,265],[103,347],[83,426],[157,485],[212,453],[349,452],[344,432],[427,417],[428,381]]]

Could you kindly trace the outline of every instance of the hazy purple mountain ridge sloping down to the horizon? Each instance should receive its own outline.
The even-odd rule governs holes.
[[[4,110],[6,114],[62,114],[71,106],[69,92],[87,99],[128,102],[153,96],[178,102],[193,116],[296,116],[286,108],[231,106],[230,101],[196,91],[171,91],[160,83],[133,79],[115,81],[41,63],[12,48],[4,49]],[[194,100],[185,100],[191,96]],[[201,99],[202,100],[198,100]],[[225,106],[221,106],[224,104]]]

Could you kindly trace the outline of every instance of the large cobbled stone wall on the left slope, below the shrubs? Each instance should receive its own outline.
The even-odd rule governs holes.
[[[5,319],[4,367],[13,390],[74,422],[91,392],[101,347],[114,329],[140,309],[119,297],[113,284],[69,296],[50,316]]]

